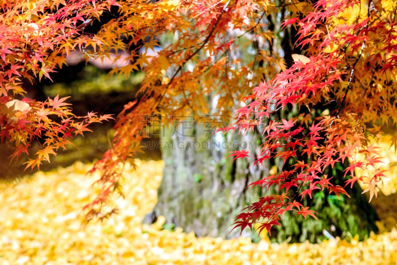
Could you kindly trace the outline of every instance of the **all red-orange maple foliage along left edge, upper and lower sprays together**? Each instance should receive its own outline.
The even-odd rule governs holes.
[[[41,162],[56,155],[59,148],[69,144],[68,139],[89,131],[87,125],[108,120],[88,113],[75,117],[66,98],[38,102],[24,97],[22,82],[46,77],[66,63],[70,50],[91,47],[103,42],[97,36],[83,35],[90,18],[109,9],[113,0],[55,0],[55,1],[0,1],[0,138],[14,142],[12,158],[21,153],[34,153],[26,162],[28,167],[39,167]],[[81,44],[85,45],[82,46]],[[36,149],[32,141],[42,139]]]

